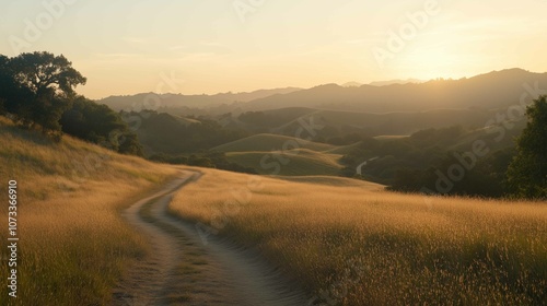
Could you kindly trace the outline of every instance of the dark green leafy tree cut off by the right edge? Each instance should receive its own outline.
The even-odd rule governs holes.
[[[513,196],[547,199],[547,96],[528,106],[528,123],[516,140],[516,156],[508,169]]]

